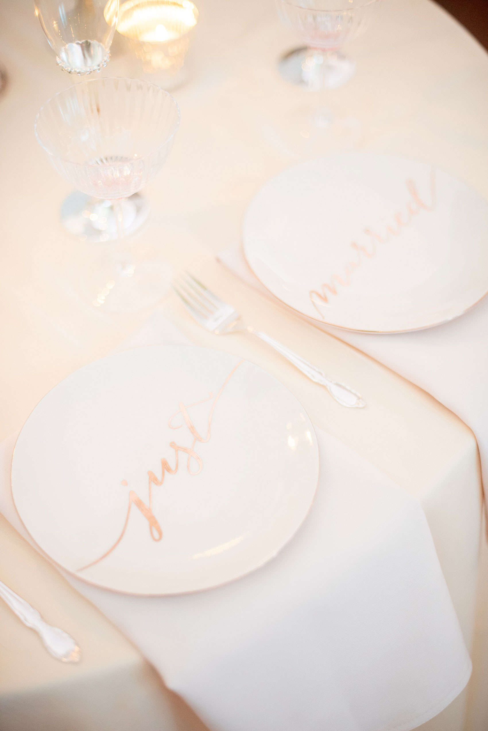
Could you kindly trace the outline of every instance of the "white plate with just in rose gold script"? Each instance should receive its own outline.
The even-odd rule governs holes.
[[[80,368],[23,425],[15,507],[53,561],[128,594],[199,591],[283,548],[319,479],[313,425],[259,366],[150,346]]]

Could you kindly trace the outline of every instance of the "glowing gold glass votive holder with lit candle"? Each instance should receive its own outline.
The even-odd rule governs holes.
[[[142,71],[154,83],[180,83],[190,31],[198,10],[190,0],[126,0],[121,4],[117,30],[127,39]]]

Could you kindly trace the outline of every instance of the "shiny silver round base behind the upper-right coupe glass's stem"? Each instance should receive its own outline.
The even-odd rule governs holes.
[[[324,58],[327,63],[324,64]],[[356,72],[356,61],[338,51],[314,51],[296,48],[278,61],[278,71],[284,80],[308,91],[343,86]]]

